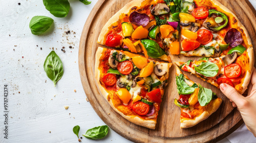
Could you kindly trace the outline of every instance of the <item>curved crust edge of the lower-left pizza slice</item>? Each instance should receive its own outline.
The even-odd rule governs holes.
[[[108,101],[108,95],[109,93],[105,90],[105,88],[103,86],[101,86],[99,80],[100,80],[100,70],[98,69],[98,66],[99,66],[99,63],[100,63],[100,57],[102,55],[102,52],[104,51],[104,48],[103,47],[98,47],[98,50],[96,52],[96,55],[95,55],[95,79],[96,79],[96,82],[98,84],[98,87],[99,87],[99,90],[100,92],[102,93],[102,96],[104,97],[104,99],[106,101]],[[150,128],[150,129],[155,129],[156,128],[156,119],[154,120],[143,120],[142,118],[136,116],[136,115],[124,115],[122,112],[118,111],[113,103],[112,103],[112,100],[110,99],[110,101],[108,101],[110,106],[117,112],[119,113],[121,116],[123,116],[126,120],[136,124],[136,125],[139,125],[139,126],[143,126],[143,127],[146,127],[146,128]]]

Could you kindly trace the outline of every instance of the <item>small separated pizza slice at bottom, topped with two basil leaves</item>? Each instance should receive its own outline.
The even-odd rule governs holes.
[[[218,98],[211,89],[191,81],[181,73],[177,66],[176,84],[179,99],[175,99],[174,103],[181,109],[181,128],[193,127],[202,122],[214,113],[222,103],[222,99]]]

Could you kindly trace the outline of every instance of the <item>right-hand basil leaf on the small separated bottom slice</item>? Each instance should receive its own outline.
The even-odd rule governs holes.
[[[212,91],[210,89],[204,88],[199,84],[199,92],[198,92],[198,102],[201,106],[205,106],[210,103],[212,100]]]

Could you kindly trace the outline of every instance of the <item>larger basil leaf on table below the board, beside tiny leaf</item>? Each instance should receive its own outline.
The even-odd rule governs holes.
[[[99,126],[99,127],[94,127],[92,129],[87,130],[86,134],[83,134],[86,138],[89,139],[100,139],[106,136],[109,132],[109,127],[104,125],[104,126]]]

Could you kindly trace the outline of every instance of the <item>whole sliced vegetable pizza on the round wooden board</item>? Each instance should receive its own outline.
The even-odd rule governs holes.
[[[248,32],[216,0],[134,0],[105,23],[98,43],[112,47],[99,47],[95,58],[95,77],[103,96],[124,118],[150,129],[156,126],[174,55],[204,57],[175,63],[216,87],[227,83],[240,93],[247,88],[254,64]],[[176,81],[182,84],[177,83],[180,98],[174,103],[182,109],[181,128],[188,128],[215,112],[222,100],[200,84],[190,85],[194,82],[178,69],[177,73]],[[194,90],[181,93],[183,86]],[[207,94],[201,96],[200,91]],[[199,108],[200,114],[191,114]],[[186,125],[184,117],[194,122]]]

